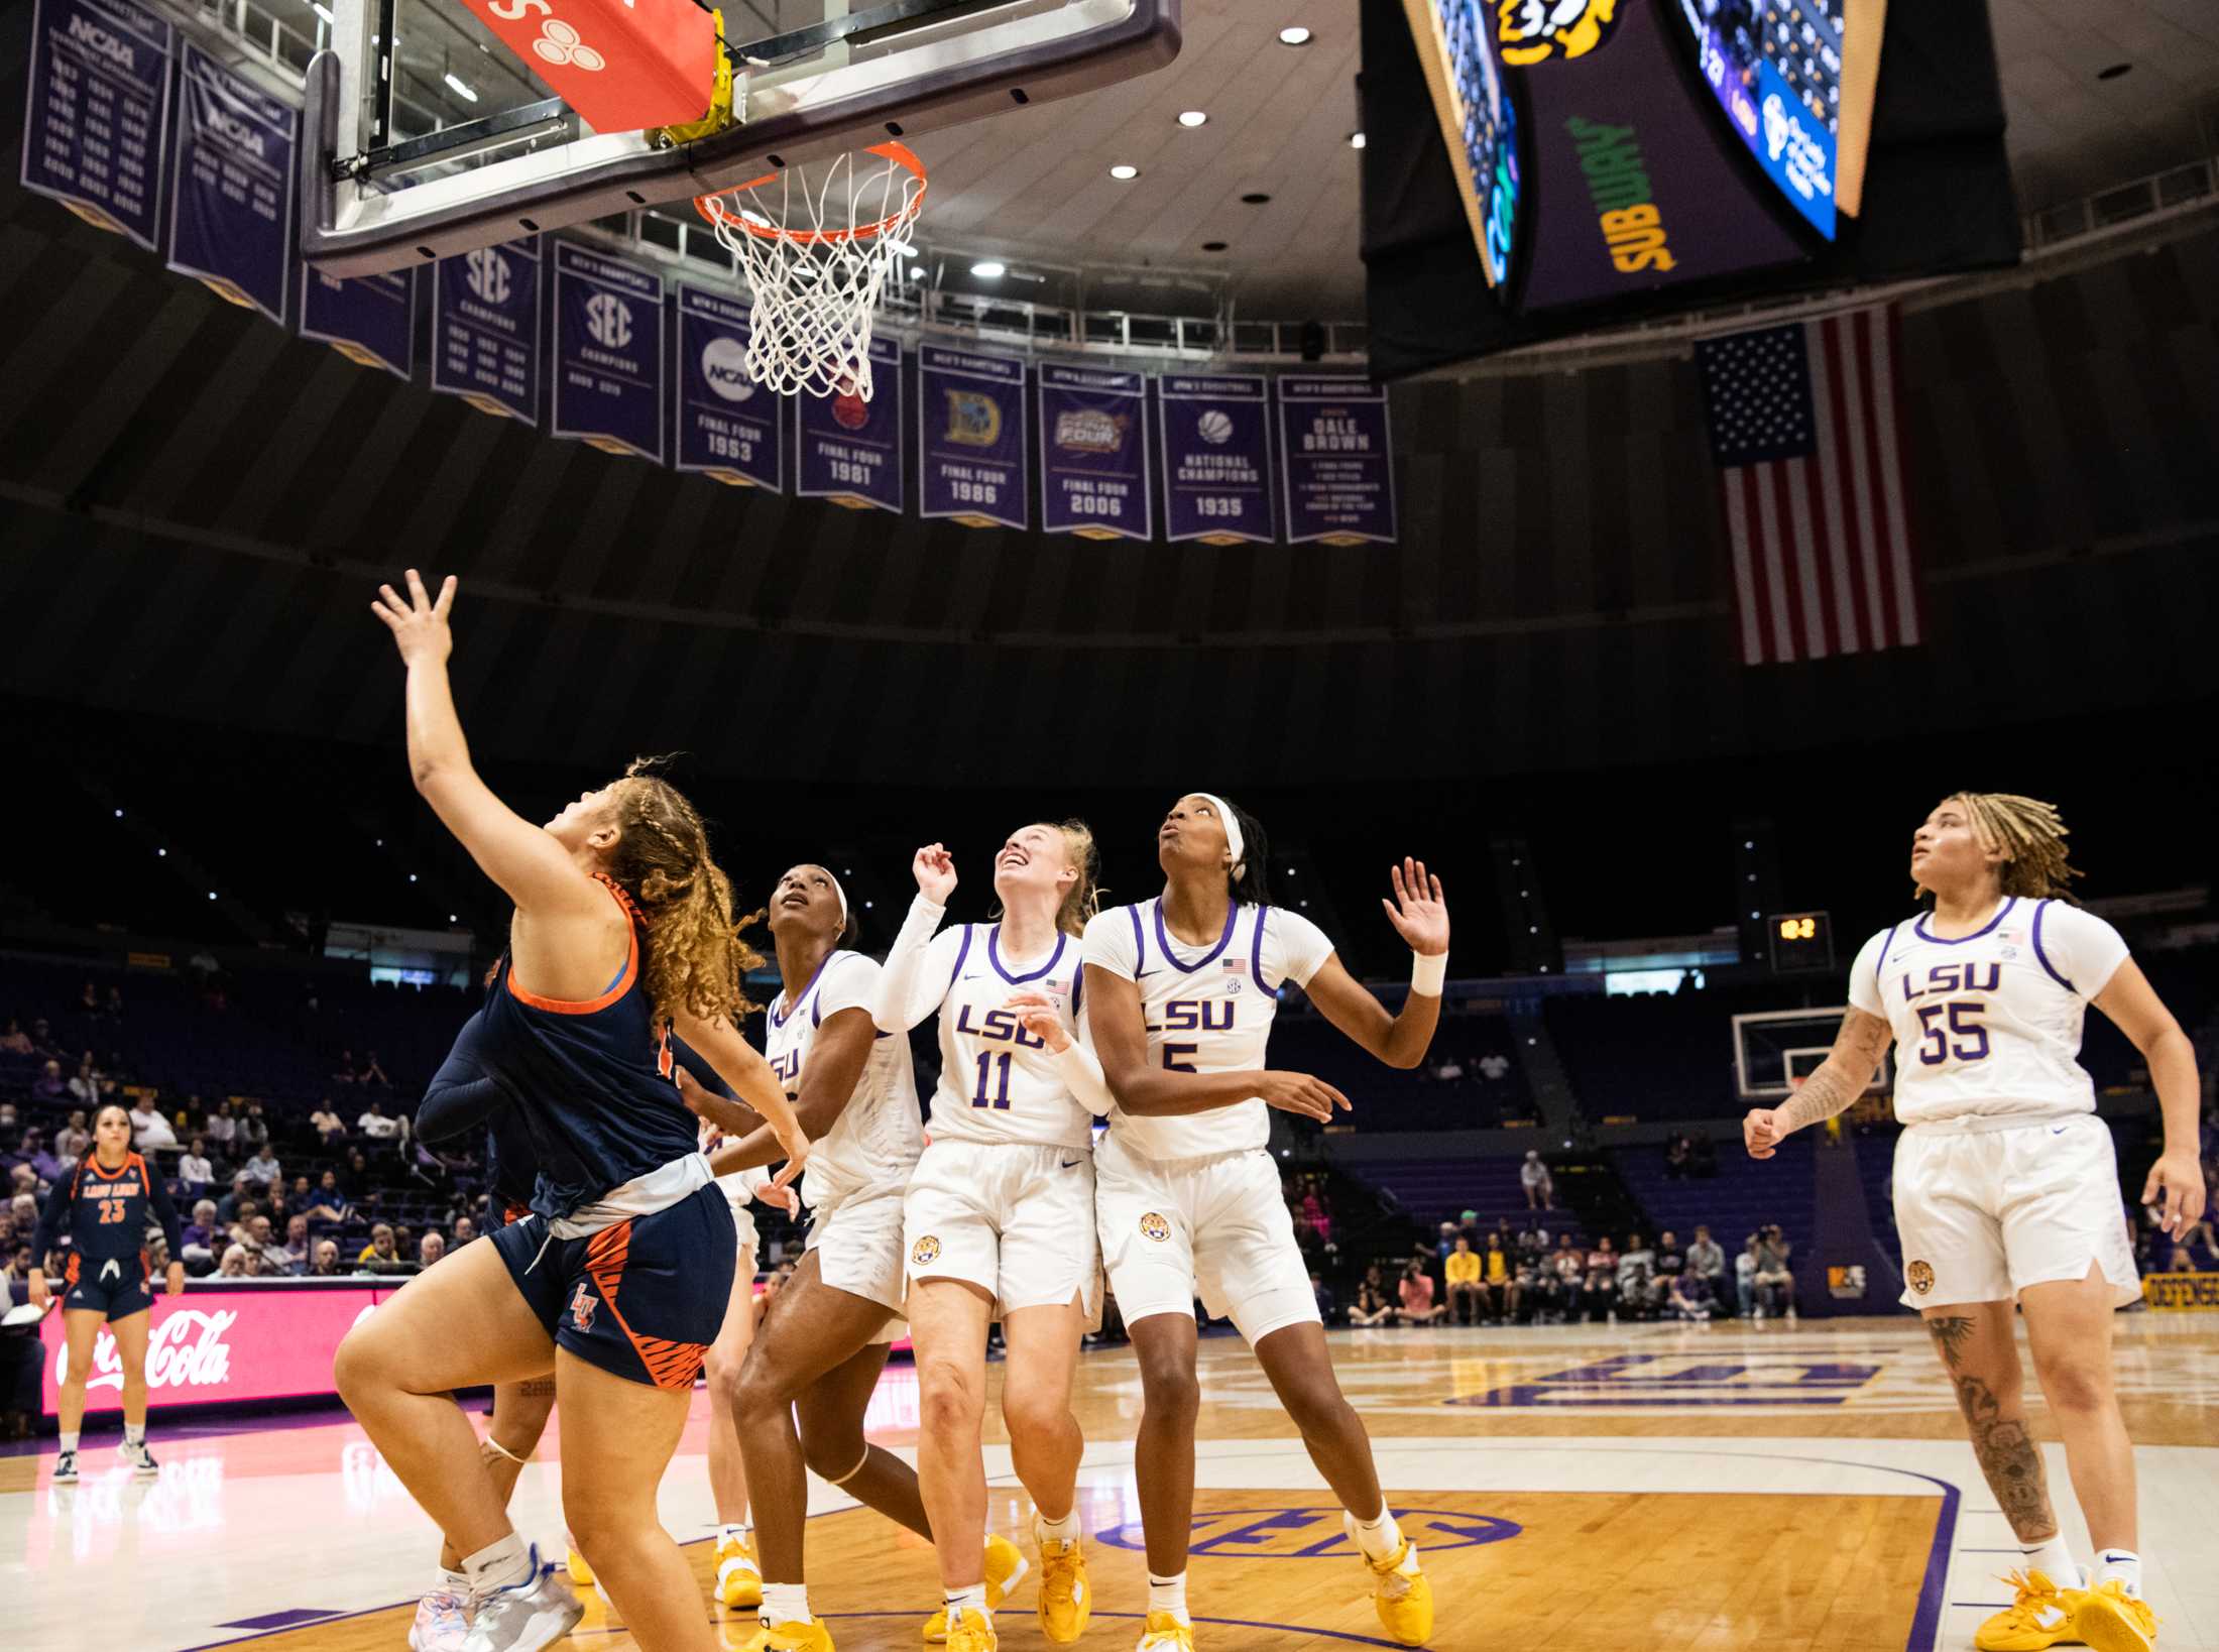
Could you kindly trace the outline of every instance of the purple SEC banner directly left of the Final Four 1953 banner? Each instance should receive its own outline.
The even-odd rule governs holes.
[[[601,452],[663,459],[663,277],[555,244],[555,424]]]

